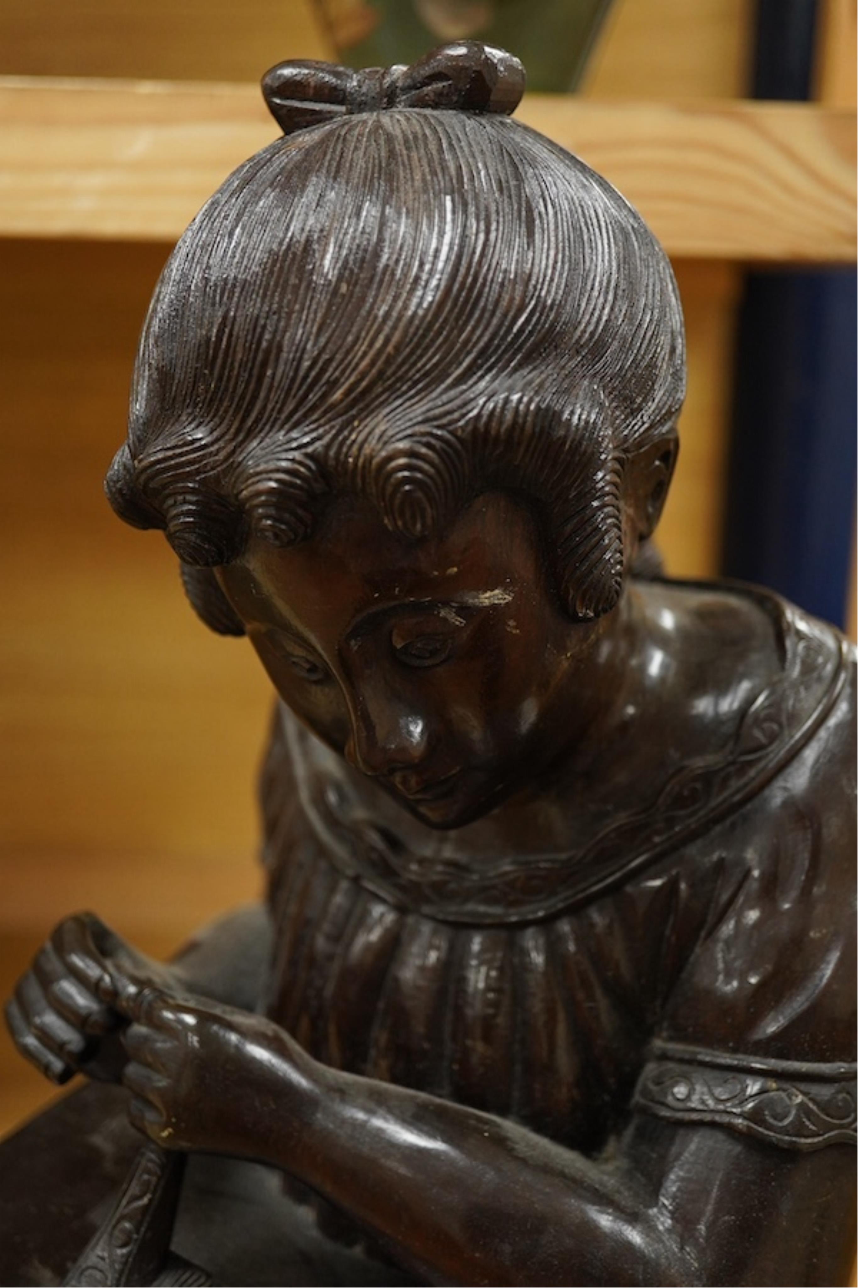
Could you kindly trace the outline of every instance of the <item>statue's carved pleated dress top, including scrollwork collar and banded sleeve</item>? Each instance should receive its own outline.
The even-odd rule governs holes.
[[[780,675],[578,853],[412,826],[278,708],[269,1014],[329,1065],[587,1153],[632,1108],[787,1149],[854,1140],[854,833],[831,809],[854,666],[830,627],[736,594],[772,621]]]

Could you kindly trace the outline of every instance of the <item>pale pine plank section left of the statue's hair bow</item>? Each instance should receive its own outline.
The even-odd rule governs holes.
[[[174,241],[277,137],[251,85],[0,81],[0,233]]]

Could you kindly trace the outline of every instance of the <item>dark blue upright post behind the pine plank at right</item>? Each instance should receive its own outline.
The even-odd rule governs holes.
[[[816,0],[758,0],[754,94],[804,99]],[[723,568],[843,625],[855,505],[855,273],[749,273]]]

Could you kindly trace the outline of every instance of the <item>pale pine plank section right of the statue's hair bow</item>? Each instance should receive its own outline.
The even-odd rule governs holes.
[[[855,258],[852,112],[533,95],[518,116],[615,183],[673,256]]]

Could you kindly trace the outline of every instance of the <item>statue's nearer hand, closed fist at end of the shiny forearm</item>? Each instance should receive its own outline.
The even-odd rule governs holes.
[[[287,1166],[316,1103],[319,1066],[260,1015],[135,988],[114,974],[129,1117],[167,1149]]]

